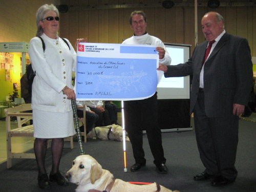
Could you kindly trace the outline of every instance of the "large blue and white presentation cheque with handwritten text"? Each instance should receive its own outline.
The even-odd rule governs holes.
[[[77,100],[139,100],[155,94],[155,46],[81,43],[77,48]]]

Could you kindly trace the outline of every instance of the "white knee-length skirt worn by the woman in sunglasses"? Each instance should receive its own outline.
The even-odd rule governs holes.
[[[66,113],[33,110],[35,138],[65,138],[76,134],[73,111]]]

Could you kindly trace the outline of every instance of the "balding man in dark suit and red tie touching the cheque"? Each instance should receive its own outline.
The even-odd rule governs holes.
[[[227,185],[237,177],[238,116],[248,103],[252,81],[248,41],[226,33],[223,20],[219,13],[206,13],[202,18],[206,41],[196,46],[186,63],[158,68],[165,77],[193,74],[190,113],[194,112],[198,150],[205,166],[194,180],[214,178],[213,186]]]

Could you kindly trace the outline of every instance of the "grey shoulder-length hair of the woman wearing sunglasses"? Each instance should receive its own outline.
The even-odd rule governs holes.
[[[44,33],[44,30],[41,28],[40,24],[39,24],[39,21],[43,20],[45,18],[45,15],[48,11],[54,11],[56,13],[57,16],[59,16],[59,11],[58,9],[53,5],[48,5],[48,4],[45,4],[45,5],[42,5],[37,11],[36,11],[36,26],[37,26],[37,32],[36,32],[36,35],[35,36],[41,36],[42,33]]]

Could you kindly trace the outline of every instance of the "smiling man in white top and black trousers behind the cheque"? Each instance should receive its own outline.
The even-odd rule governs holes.
[[[123,44],[154,45],[159,54],[159,63],[170,65],[170,56],[163,42],[146,32],[146,15],[143,11],[134,11],[130,17],[130,25],[134,35],[123,41]],[[125,129],[133,147],[135,164],[131,172],[137,172],[146,164],[143,150],[142,130],[146,131],[148,143],[154,157],[158,173],[166,174],[161,130],[157,122],[157,93],[143,100],[124,101]]]

